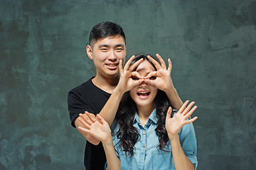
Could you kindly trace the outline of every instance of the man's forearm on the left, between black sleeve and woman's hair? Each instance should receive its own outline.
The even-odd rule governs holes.
[[[114,89],[107,103],[99,113],[109,125],[112,125],[113,123],[114,116],[117,113],[117,109],[123,94],[124,93],[119,91],[117,88]]]

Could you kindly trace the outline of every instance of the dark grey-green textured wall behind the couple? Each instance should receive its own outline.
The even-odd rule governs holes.
[[[0,1],[0,169],[82,169],[85,140],[67,94],[95,75],[85,54],[100,21],[128,55],[171,58],[195,100],[198,169],[256,169],[256,1]]]

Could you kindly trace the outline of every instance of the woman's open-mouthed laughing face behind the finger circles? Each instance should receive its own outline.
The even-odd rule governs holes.
[[[150,72],[154,72],[154,67],[147,61],[144,60],[137,67],[136,71],[142,76],[146,77]],[[151,79],[154,79],[152,77]],[[156,97],[158,89],[155,86],[146,84],[144,81],[138,86],[134,86],[129,92],[130,96],[137,104],[137,106],[147,106],[149,108],[154,106],[154,98]]]

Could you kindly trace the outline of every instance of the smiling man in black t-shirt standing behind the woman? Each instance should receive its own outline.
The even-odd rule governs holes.
[[[90,45],[87,45],[86,50],[88,57],[95,64],[96,76],[72,89],[68,94],[70,120],[73,127],[77,129],[79,126],[86,128],[79,121],[79,114],[85,113],[85,111],[94,115],[99,113],[111,125],[114,120],[112,113],[115,113],[118,108],[117,105],[112,105],[112,103],[119,103],[125,91],[129,91],[132,87],[144,81],[143,77],[140,77],[136,72],[132,72],[142,60],[129,67],[129,64],[134,59],[134,57],[131,57],[125,64],[124,69],[122,69],[127,55],[127,47],[124,32],[119,25],[108,21],[98,23],[92,28],[89,41]],[[158,57],[162,66],[165,65],[163,64],[164,60],[160,56]],[[159,66],[159,69],[162,69],[162,67]],[[139,80],[133,81],[129,79],[133,74],[139,77]],[[169,69],[167,79],[171,85],[168,86],[166,94],[169,96],[171,104],[178,109],[182,106],[182,101],[172,85],[170,74],[171,69]],[[78,131],[87,140],[84,159],[86,169],[104,169],[106,158],[100,141],[82,130],[78,129]]]

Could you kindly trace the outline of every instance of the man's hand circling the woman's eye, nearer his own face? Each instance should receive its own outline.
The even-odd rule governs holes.
[[[140,59],[130,66],[132,60],[134,60],[134,57],[135,56],[133,55],[127,61],[127,63],[124,65],[124,69],[122,68],[122,60],[119,62],[120,79],[116,89],[119,90],[122,94],[124,94],[126,91],[129,91],[134,86],[142,84],[142,81],[144,81],[143,77],[141,77],[138,72],[132,72],[140,63],[143,62],[143,59]],[[132,79],[132,77],[137,77],[137,80]]]

